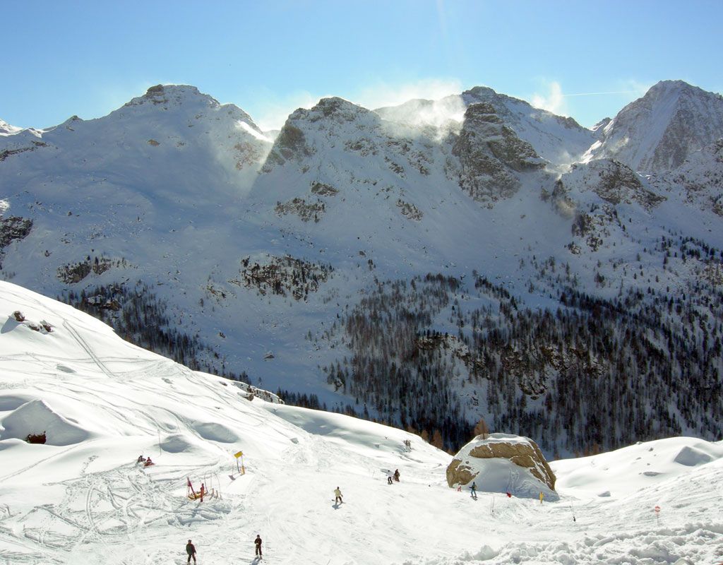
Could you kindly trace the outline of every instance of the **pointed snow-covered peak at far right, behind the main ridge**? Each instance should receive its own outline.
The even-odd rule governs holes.
[[[599,131],[586,159],[614,158],[633,170],[675,169],[723,137],[723,96],[682,80],[663,80]]]

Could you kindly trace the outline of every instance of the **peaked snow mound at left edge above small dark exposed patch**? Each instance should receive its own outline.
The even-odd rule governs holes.
[[[46,443],[51,446],[69,446],[85,441],[87,431],[72,424],[59,415],[43,400],[35,399],[14,409],[2,420],[5,428],[0,439],[25,439],[30,434],[46,434]]]

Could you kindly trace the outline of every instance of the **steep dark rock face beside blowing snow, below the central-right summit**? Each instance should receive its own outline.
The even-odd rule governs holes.
[[[462,167],[460,186],[484,203],[513,196],[521,186],[516,173],[544,168],[544,160],[502,123],[489,103],[469,106],[452,153]]]

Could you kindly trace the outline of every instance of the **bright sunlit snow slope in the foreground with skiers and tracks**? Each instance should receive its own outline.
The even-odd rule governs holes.
[[[0,282],[0,309],[1,564],[180,564],[189,538],[201,565],[254,563],[257,533],[263,561],[279,564],[723,559],[721,442],[669,438],[553,462],[559,501],[475,501],[447,487],[450,455],[417,436],[249,402],[236,383],[14,284]],[[43,431],[45,445],[22,441]],[[140,467],[139,454],[155,465]],[[400,483],[386,483],[390,469]],[[187,480],[221,496],[191,501]]]

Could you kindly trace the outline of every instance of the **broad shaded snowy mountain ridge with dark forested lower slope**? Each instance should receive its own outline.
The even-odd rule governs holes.
[[[270,136],[153,87],[0,136],[0,275],[194,369],[448,449],[480,419],[548,455],[717,439],[721,216],[683,180],[572,163],[596,135],[478,88],[325,98]]]

